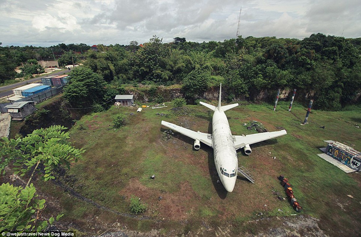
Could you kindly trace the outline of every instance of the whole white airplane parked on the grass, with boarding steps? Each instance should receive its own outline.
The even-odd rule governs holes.
[[[238,106],[238,103],[221,106],[221,91],[222,84],[219,87],[218,107],[204,102],[199,102],[214,111],[212,118],[212,134],[192,131],[166,121],[162,121],[162,125],[194,139],[195,141],[193,147],[196,150],[200,149],[200,142],[212,147],[214,164],[216,164],[219,179],[227,192],[232,192],[236,183],[237,172],[242,173],[247,179],[254,183],[253,177],[248,175],[247,172],[244,172],[243,166],[241,166],[243,169],[238,168],[236,150],[244,148],[244,153],[249,155],[252,152],[249,145],[285,135],[287,132],[286,130],[281,130],[251,135],[232,136],[225,111]]]

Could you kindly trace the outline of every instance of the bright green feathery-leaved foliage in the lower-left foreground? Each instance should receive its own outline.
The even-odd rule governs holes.
[[[45,200],[33,199],[37,195],[31,179],[40,170],[44,173],[40,172],[44,181],[54,179],[56,168],[66,165],[70,169],[70,164],[81,158],[84,150],[76,149],[66,141],[69,133],[64,132],[65,129],[64,126],[55,125],[34,130],[24,138],[2,138],[0,172],[3,173],[5,167],[14,162],[15,174],[24,176],[31,172],[31,175],[25,188],[13,187],[9,183],[0,186],[0,232],[42,231],[47,227],[48,221],[39,222]],[[60,217],[58,215],[56,220]],[[53,224],[54,220],[50,218],[49,223]]]

